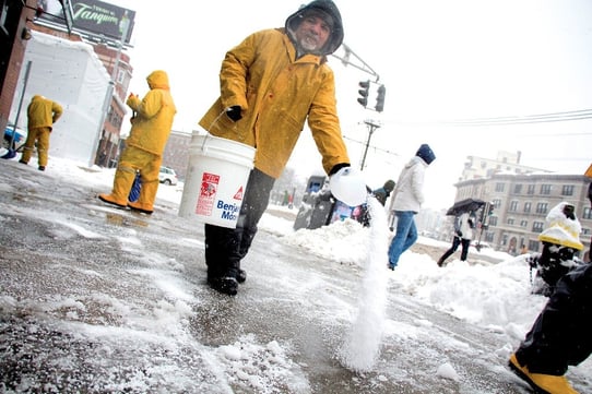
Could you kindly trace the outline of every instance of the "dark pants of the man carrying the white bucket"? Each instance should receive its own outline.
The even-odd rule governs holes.
[[[236,277],[240,260],[251,247],[257,224],[263,216],[275,179],[257,168],[249,174],[236,228],[205,225],[208,277]]]

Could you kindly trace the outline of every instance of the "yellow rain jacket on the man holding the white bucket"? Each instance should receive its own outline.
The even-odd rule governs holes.
[[[296,49],[285,28],[248,36],[230,49],[220,75],[221,97],[200,120],[211,134],[257,148],[254,167],[279,178],[308,117],[327,172],[350,163],[336,115],[333,71],[324,56]],[[225,109],[240,106],[242,119]]]

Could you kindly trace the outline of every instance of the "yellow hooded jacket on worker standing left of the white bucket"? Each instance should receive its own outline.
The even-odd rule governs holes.
[[[138,96],[130,95],[126,102],[135,112],[126,143],[162,156],[177,108],[170,95],[168,75],[165,71],[152,72],[146,81],[150,92],[144,98],[140,100]]]

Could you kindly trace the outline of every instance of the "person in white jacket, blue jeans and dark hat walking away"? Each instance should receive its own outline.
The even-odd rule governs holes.
[[[414,216],[424,202],[424,174],[436,159],[428,144],[422,144],[415,156],[405,165],[394,187],[391,211],[396,216],[396,232],[389,247],[389,268],[394,270],[401,254],[417,240]]]

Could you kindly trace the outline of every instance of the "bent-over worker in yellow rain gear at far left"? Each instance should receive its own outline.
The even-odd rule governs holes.
[[[27,107],[27,136],[20,163],[28,164],[36,142],[38,168],[39,171],[45,171],[49,151],[49,134],[62,112],[63,108],[58,103],[40,95],[33,96]]]

